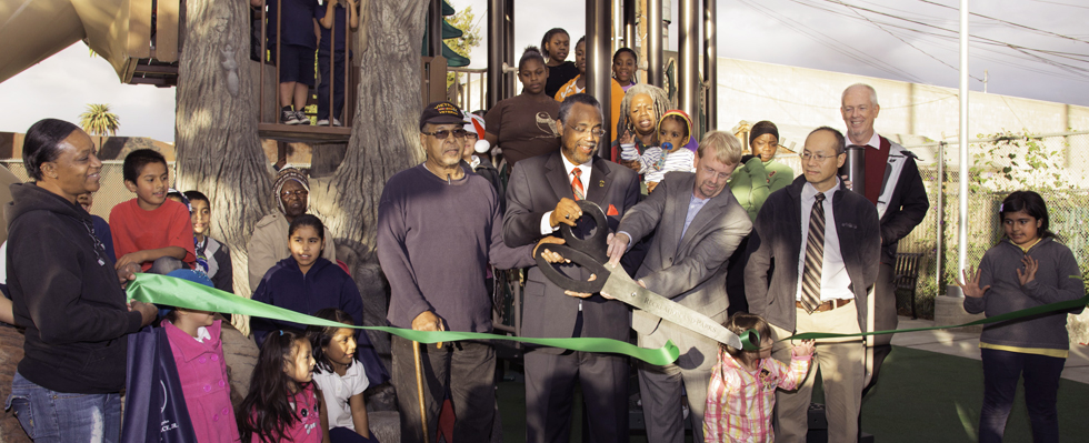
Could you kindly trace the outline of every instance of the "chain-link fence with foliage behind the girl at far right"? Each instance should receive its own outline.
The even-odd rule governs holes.
[[[939,159],[945,159],[946,163],[941,168],[940,161],[920,162],[919,173],[927,188],[930,210],[922,223],[900,240],[898,250],[923,254],[916,308],[920,316],[932,319],[935,296],[945,294],[947,285],[956,284],[959,273],[960,173],[949,163],[959,158],[960,151],[957,144],[948,143],[906,148],[917,153],[940,151]],[[969,153],[975,168],[969,173],[967,264],[978,265],[983,253],[1001,240],[1003,232],[998,212],[1002,200],[1015,190],[1031,190],[1047,202],[1051,231],[1073,251],[1082,274],[1089,275],[1089,184],[1086,179],[1089,131],[972,140]],[[1050,155],[1049,163],[1032,161],[1032,155],[1041,159]],[[1022,160],[1026,158],[1029,161]],[[1062,178],[1056,178],[1056,173]],[[910,313],[908,299],[905,294],[898,298],[901,314]]]

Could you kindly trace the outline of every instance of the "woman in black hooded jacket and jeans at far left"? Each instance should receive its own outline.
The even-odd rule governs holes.
[[[156,318],[153,304],[126,304],[91,217],[76,197],[99,189],[102,162],[76,125],[44,119],[27,131],[30,183],[11,185],[8,286],[16,324],[27,329],[11,383],[14,409],[36,442],[119,440],[126,334]]]

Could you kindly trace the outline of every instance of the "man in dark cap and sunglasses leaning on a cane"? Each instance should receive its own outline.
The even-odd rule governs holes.
[[[462,161],[463,114],[433,102],[420,115],[426,160],[398,172],[378,205],[378,260],[390,284],[387,320],[417,331],[491,332],[491,299],[484,269],[524,268],[532,248],[502,241],[499,195]],[[401,441],[424,442],[420,426],[413,343],[392,338],[393,389]],[[423,410],[431,439],[449,391],[457,420],[452,440],[489,442],[496,412],[496,350],[489,343],[420,345]]]

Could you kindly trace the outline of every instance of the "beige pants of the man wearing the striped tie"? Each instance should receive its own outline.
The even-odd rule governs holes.
[[[806,313],[798,310],[796,332],[858,333],[858,311],[856,303],[826,312]],[[791,343],[778,342],[790,336],[775,325],[776,345],[771,356],[781,362],[790,362]],[[806,381],[796,391],[779,390],[776,393],[776,442],[806,442],[809,431],[809,403],[812,401],[813,381],[817,372],[825,386],[825,413],[828,419],[829,443],[855,443],[858,441],[858,414],[861,407],[865,348],[860,338],[818,340],[817,355]]]

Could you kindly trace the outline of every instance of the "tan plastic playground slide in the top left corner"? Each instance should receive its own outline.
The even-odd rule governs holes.
[[[0,82],[79,40],[124,79],[129,28],[144,26],[129,16],[143,10],[150,21],[151,0],[0,1]]]

